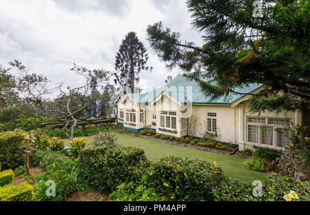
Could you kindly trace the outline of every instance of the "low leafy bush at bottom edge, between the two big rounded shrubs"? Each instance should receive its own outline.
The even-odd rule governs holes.
[[[136,185],[134,182],[118,185],[109,198],[112,201],[161,201],[153,187]]]

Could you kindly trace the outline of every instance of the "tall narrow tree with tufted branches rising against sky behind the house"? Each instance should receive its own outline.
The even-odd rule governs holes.
[[[129,32],[125,36],[116,53],[115,84],[127,86],[134,92],[134,82],[139,81],[139,73],[141,70],[148,70],[149,68],[145,66],[149,59],[146,51],[143,43],[136,37],[136,32]]]

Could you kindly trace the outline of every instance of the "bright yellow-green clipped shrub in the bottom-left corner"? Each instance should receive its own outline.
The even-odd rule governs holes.
[[[0,201],[32,201],[34,192],[27,182],[0,187]]]

